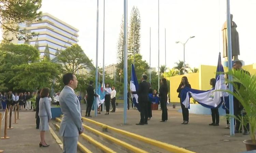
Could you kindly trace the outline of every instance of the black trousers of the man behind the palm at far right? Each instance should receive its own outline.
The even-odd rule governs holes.
[[[246,113],[243,112],[243,106],[240,104],[240,102],[234,98],[234,116],[236,117],[241,117],[245,116]],[[240,129],[241,122],[236,119],[236,130],[241,131]],[[250,130],[250,124],[247,123],[246,125],[243,125],[244,131],[249,131]]]

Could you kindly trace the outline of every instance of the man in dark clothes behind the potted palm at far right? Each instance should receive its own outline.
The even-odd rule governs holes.
[[[236,61],[233,64],[233,68],[235,70],[242,70],[242,63],[240,61]],[[248,71],[242,70],[245,73],[247,73],[248,75],[251,75]],[[238,89],[234,88],[233,91],[236,92],[236,90],[241,90],[241,84],[237,83]],[[245,116],[246,113],[243,111],[244,107],[242,106],[242,104],[238,101],[238,99],[236,99],[236,97],[234,97],[233,99],[233,103],[234,103],[234,115],[238,118],[239,116]],[[236,130],[234,131],[234,133],[242,133],[242,130],[240,129],[240,124],[241,122],[239,120],[236,119]],[[244,133],[243,135],[248,135],[249,132],[248,130],[250,130],[250,124],[247,123],[246,125],[244,125]]]

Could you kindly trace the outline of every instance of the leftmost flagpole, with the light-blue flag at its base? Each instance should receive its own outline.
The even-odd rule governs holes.
[[[95,93],[98,94],[98,40],[99,40],[99,0],[97,0],[97,30],[96,30],[96,79],[95,79]],[[97,103],[94,104],[94,115],[97,116]]]

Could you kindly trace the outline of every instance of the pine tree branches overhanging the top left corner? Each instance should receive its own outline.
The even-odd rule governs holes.
[[[25,27],[17,26],[19,23],[32,22],[37,19],[42,12],[38,12],[41,8],[42,0],[0,0],[0,17],[1,27],[3,29],[3,38],[11,41],[14,38],[8,38],[8,33],[14,33],[16,37],[21,39],[29,39],[31,35],[26,33]]]

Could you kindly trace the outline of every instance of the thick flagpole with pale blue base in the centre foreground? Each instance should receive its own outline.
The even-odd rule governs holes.
[[[127,0],[124,0],[124,124],[127,109]]]

